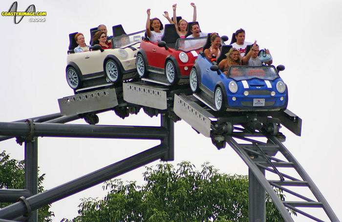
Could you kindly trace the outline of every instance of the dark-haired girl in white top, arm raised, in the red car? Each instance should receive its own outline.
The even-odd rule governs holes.
[[[147,10],[146,34],[151,42],[158,42],[164,35],[163,23],[158,18],[150,19],[150,9]]]

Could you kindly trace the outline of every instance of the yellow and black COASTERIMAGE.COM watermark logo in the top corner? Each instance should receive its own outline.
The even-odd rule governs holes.
[[[24,16],[34,16],[34,18],[28,18],[28,21],[45,21],[45,18],[40,16],[46,16],[46,12],[36,12],[36,6],[34,4],[29,5],[24,12],[17,12],[17,8],[18,2],[15,1],[8,12],[2,12],[1,16],[13,16],[14,24],[19,24]],[[21,17],[19,18],[19,21],[17,20],[17,16]]]

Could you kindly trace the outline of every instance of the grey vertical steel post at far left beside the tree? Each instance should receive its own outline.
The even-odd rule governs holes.
[[[25,189],[38,193],[38,137],[25,142]],[[27,212],[28,222],[38,222],[38,210]]]

